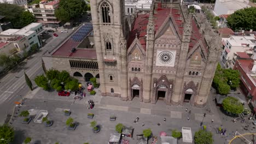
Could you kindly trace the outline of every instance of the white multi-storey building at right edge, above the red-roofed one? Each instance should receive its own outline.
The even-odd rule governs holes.
[[[226,68],[233,68],[235,61],[232,59],[236,56],[237,52],[251,52],[248,53],[252,55],[253,47],[256,45],[256,39],[253,36],[245,35],[231,35],[230,38],[222,38],[223,52],[221,60]]]

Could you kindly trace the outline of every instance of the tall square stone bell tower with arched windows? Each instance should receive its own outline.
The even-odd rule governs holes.
[[[127,100],[124,0],[90,1],[102,95]]]

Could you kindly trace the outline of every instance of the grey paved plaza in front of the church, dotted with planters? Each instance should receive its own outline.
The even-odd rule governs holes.
[[[48,118],[53,120],[54,124],[49,128],[44,127],[44,124],[34,123],[33,121],[26,125],[21,124],[21,117],[14,117],[13,126],[18,131],[16,132],[15,143],[21,143],[28,136],[38,143],[107,143],[110,133],[116,133],[115,125],[118,123],[135,128],[133,139],[126,137],[130,140],[130,143],[136,143],[136,135],[142,134],[143,129],[146,128],[152,129],[153,135],[159,137],[160,131],[166,131],[167,135],[171,135],[173,129],[181,131],[182,127],[190,127],[194,135],[195,131],[201,128],[201,122],[207,125],[208,131],[212,131],[214,143],[228,143],[233,139],[235,131],[239,131],[241,134],[255,131],[253,128],[243,129],[243,126],[247,124],[252,125],[250,121],[232,123],[231,117],[221,113],[212,100],[214,92],[211,94],[212,98],[210,97],[206,107],[197,108],[189,105],[169,106],[161,100],[156,104],[141,103],[136,98],[132,101],[121,101],[118,97],[102,97],[99,91],[100,89],[96,89],[96,95],[87,94],[82,100],[75,100],[73,95],[59,97],[57,92],[45,92],[41,88],[36,88],[27,94],[20,111],[30,109],[48,110]],[[89,99],[95,101],[95,108],[92,110],[88,109]],[[188,108],[188,111],[191,110],[191,114],[185,111],[186,108]],[[75,131],[66,129],[68,116],[63,115],[63,109],[70,109],[72,111],[71,117],[79,123]],[[88,113],[94,113],[95,117],[93,119],[87,118]],[[203,118],[203,113],[206,113],[205,118]],[[109,117],[113,115],[117,116],[115,122],[109,121]],[[133,121],[137,116],[139,122],[134,123]],[[189,121],[187,121],[188,117]],[[166,122],[164,122],[164,118],[166,118]],[[211,122],[212,119],[214,119],[213,123]],[[94,120],[102,126],[100,133],[94,134],[92,132],[90,122]],[[142,123],[145,124],[144,127]],[[217,134],[215,128],[218,127],[226,128],[227,135]],[[161,143],[160,139],[158,143]],[[183,143],[182,139],[178,143]]]

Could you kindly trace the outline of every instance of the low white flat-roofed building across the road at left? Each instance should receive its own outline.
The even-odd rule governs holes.
[[[31,23],[22,29],[8,29],[7,31],[1,32],[1,35],[24,35],[28,39],[28,47],[33,44],[38,44],[40,47],[41,41],[39,35],[43,33],[42,23]]]

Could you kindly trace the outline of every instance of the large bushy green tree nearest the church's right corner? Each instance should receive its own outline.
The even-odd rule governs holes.
[[[217,93],[226,95],[230,89],[235,90],[240,86],[240,73],[238,70],[222,69],[218,64],[212,84]]]

